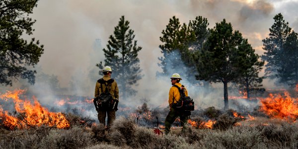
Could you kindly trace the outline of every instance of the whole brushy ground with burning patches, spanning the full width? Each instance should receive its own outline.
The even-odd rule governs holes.
[[[164,128],[161,125],[153,126],[156,124],[153,118],[158,116],[161,123],[164,122],[168,109],[154,109],[153,111],[147,104],[143,104],[135,111],[135,114],[138,114],[137,117],[129,116],[129,114],[126,117],[118,116],[110,131],[107,132],[103,125],[96,124],[88,117],[81,117],[74,113],[49,112],[35,98],[33,98],[34,104],[31,104],[29,100],[22,100],[20,99],[22,93],[22,90],[18,90],[0,96],[5,101],[13,99],[16,109],[14,113],[0,111],[0,148],[298,148],[298,123],[295,121],[297,117],[295,113],[277,113],[284,110],[275,110],[273,115],[260,117],[250,112],[237,112],[232,109],[223,111],[209,107],[205,110],[194,111],[191,119],[188,120],[187,129],[181,131],[181,127],[173,124],[173,129],[168,135],[157,135],[154,134],[153,129],[156,127],[164,131]],[[280,97],[287,98],[287,96]],[[293,104],[292,109],[297,106],[295,105],[297,101],[293,101],[293,98],[289,102],[288,100],[282,102],[280,97],[272,96],[264,103],[267,103],[266,105],[274,102]],[[51,114],[61,114],[64,121],[55,119],[56,117]],[[296,119],[289,121],[285,119],[288,117]],[[39,119],[43,123],[36,123]],[[10,125],[7,125],[8,120],[11,120]],[[142,123],[141,120],[143,120]],[[67,122],[68,127],[58,127],[62,122]]]

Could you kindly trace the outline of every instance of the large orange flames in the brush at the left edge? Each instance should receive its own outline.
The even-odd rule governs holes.
[[[15,104],[15,110],[20,116],[10,116],[7,111],[0,108],[0,119],[2,125],[10,130],[15,128],[23,129],[34,126],[48,125],[57,128],[69,128],[70,123],[67,121],[62,113],[49,112],[48,109],[42,107],[37,99],[33,96],[34,104],[29,100],[22,100],[19,95],[23,94],[24,90],[7,91],[0,95],[1,99],[12,99]]]

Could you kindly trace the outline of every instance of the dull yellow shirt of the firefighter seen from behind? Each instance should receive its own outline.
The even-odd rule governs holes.
[[[104,80],[109,80],[111,77],[109,75],[103,75],[102,77]],[[102,84],[103,92],[105,91],[105,84]],[[108,89],[110,89],[108,87]],[[111,89],[109,90],[110,93],[112,94],[113,98],[117,98],[119,100],[119,89],[116,80],[111,84]],[[98,95],[101,93],[101,88],[100,88],[100,83],[96,81],[95,85],[95,92],[94,92],[94,97],[98,97]]]

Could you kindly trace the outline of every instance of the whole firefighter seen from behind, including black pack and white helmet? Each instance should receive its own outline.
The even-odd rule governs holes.
[[[93,102],[98,112],[99,123],[105,125],[105,118],[108,115],[107,129],[109,129],[116,118],[119,90],[116,80],[111,78],[112,69],[105,66],[101,72],[104,75],[96,82]]]

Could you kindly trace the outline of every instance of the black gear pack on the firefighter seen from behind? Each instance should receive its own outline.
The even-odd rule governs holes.
[[[98,97],[95,97],[93,102],[96,108],[96,111],[117,111],[118,100],[113,99],[112,94],[109,92],[111,90],[111,83],[114,82],[114,79],[104,80],[103,78],[97,80],[100,83],[101,93]],[[103,92],[102,84],[105,84],[105,91]]]

